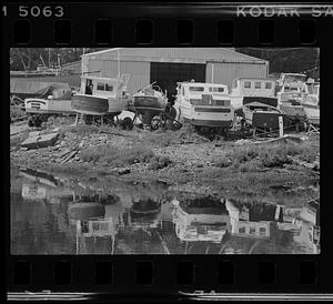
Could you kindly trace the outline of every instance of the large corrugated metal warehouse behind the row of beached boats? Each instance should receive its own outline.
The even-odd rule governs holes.
[[[82,55],[82,72],[101,77],[129,73],[129,92],[157,81],[168,97],[178,81],[223,83],[238,77],[266,78],[269,62],[223,48],[117,48]]]

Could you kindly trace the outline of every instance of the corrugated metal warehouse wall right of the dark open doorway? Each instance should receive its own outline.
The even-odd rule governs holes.
[[[243,63],[243,62],[208,62],[205,81],[213,83],[223,83],[231,89],[232,80],[239,77],[246,78],[266,78],[269,69],[266,64]],[[213,81],[212,81],[213,77]]]

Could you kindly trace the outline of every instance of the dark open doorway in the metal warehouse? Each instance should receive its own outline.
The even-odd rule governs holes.
[[[205,64],[200,63],[150,63],[150,82],[157,81],[163,92],[167,90],[169,101],[174,101],[176,82],[205,82]]]

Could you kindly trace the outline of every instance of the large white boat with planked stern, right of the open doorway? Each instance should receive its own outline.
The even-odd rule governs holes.
[[[179,82],[175,119],[198,126],[229,129],[234,119],[234,109],[228,93],[225,84]]]

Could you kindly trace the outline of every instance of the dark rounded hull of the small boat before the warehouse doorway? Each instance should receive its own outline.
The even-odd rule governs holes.
[[[151,124],[153,116],[159,115],[165,109],[165,102],[158,97],[134,97],[133,107],[142,118],[143,124]]]

